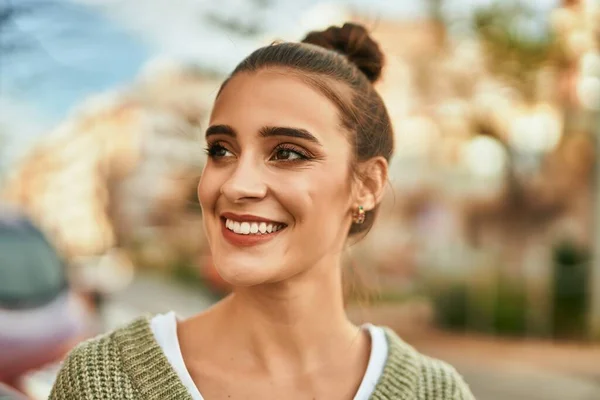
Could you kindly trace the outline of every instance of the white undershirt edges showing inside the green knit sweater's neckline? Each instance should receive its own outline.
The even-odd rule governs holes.
[[[179,379],[190,392],[192,399],[204,400],[185,367],[177,338],[177,316],[175,313],[171,311],[166,314],[156,315],[152,318],[150,327],[156,341],[167,356]],[[363,325],[363,329],[367,329],[371,335],[371,355],[369,356],[369,364],[367,365],[365,376],[354,396],[354,400],[367,400],[371,396],[375,385],[377,385],[383,373],[383,367],[388,354],[388,343],[383,329],[371,324]]]

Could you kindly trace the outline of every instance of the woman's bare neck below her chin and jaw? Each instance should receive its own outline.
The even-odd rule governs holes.
[[[267,372],[314,371],[344,360],[363,339],[344,311],[341,267],[331,263],[277,284],[236,289],[219,308],[217,325],[226,328],[228,342]]]

